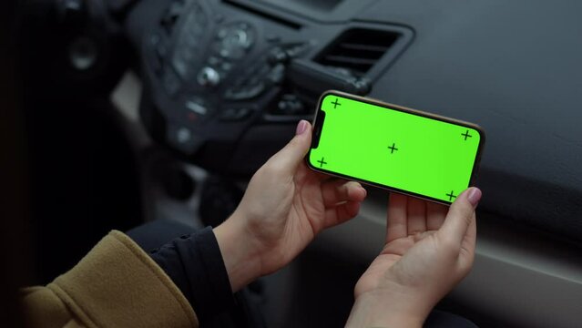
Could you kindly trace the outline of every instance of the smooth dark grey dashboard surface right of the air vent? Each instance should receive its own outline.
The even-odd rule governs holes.
[[[582,240],[582,3],[377,1],[414,29],[371,97],[476,122],[482,209]]]

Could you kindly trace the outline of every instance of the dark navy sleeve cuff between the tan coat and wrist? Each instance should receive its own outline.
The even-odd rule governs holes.
[[[186,296],[201,323],[235,306],[229,275],[211,227],[183,235],[151,258]]]

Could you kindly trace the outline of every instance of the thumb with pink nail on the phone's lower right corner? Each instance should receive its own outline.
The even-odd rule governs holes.
[[[451,205],[440,229],[441,233],[460,244],[471,222],[475,220],[475,208],[479,200],[481,200],[481,190],[478,188],[471,187],[461,193]]]

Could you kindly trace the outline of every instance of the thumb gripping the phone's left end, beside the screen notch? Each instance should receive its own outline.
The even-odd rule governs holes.
[[[311,123],[301,119],[295,129],[295,137],[271,159],[275,166],[290,174],[297,169],[311,147]]]

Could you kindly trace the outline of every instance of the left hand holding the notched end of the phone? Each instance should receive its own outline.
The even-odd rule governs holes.
[[[311,124],[301,120],[295,137],[255,173],[237,210],[214,230],[233,292],[281,269],[320,231],[360,210],[366,190],[309,169],[303,158],[310,145]]]

